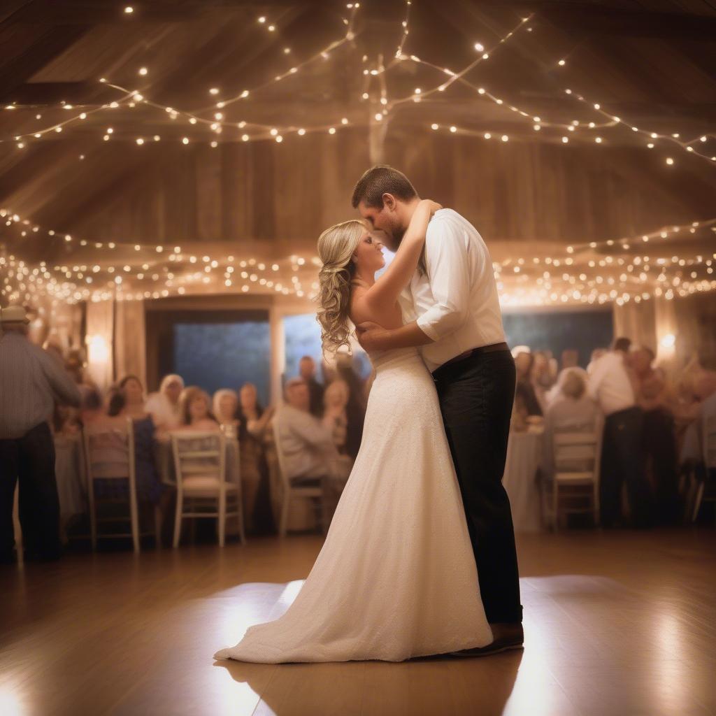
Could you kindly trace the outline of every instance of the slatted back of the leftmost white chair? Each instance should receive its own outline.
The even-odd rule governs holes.
[[[108,427],[89,423],[82,429],[87,480],[127,480],[136,477],[134,424],[128,417],[124,425]]]

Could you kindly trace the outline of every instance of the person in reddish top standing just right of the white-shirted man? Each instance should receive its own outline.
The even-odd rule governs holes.
[[[629,355],[629,362],[644,421],[644,470],[654,488],[657,520],[669,524],[680,513],[676,430],[667,400],[667,380],[662,371],[654,369],[654,357],[651,349],[640,347]]]

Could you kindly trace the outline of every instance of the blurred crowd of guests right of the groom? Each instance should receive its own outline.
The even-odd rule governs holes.
[[[586,369],[576,350],[513,350],[517,389],[512,429],[543,427],[542,473],[553,465],[557,432],[601,437],[601,524],[672,524],[684,515],[683,470],[691,468],[691,428],[716,412],[716,362],[695,357],[682,369],[656,364],[652,349],[627,337],[596,349]],[[624,487],[626,488],[624,490]],[[626,500],[624,500],[626,496]],[[628,513],[628,518],[627,518]]]

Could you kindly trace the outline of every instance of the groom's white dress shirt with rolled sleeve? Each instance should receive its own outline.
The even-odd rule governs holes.
[[[492,259],[475,227],[453,209],[435,212],[425,236],[427,275],[403,291],[405,319],[434,343],[422,347],[430,371],[472,348],[505,340]]]

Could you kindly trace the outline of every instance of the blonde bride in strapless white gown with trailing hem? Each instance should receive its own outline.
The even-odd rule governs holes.
[[[420,202],[379,279],[382,244],[362,221],[321,234],[324,349],[347,345],[351,323],[402,325],[398,296],[440,208]],[[492,641],[430,372],[415,348],[370,358],[377,375],[361,448],[311,573],[283,616],[249,627],[217,659],[400,662]]]

